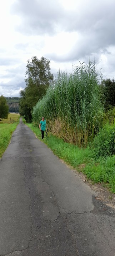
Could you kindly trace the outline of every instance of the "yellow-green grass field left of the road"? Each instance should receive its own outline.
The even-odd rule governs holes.
[[[6,150],[12,133],[19,123],[19,114],[9,114],[7,119],[0,121],[0,158]]]

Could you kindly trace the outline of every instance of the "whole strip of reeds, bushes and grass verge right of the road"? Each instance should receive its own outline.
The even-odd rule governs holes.
[[[55,86],[33,108],[34,132],[42,116],[50,131],[48,147],[87,179],[115,193],[114,79],[102,80],[93,62],[82,63],[69,75],[59,72]]]

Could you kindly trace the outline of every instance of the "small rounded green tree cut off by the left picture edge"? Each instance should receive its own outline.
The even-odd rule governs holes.
[[[3,118],[7,118],[9,114],[9,107],[7,105],[6,99],[3,95],[0,96],[0,121]]]

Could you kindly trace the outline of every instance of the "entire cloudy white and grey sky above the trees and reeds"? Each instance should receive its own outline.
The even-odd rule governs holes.
[[[19,97],[27,60],[50,59],[51,72],[100,61],[115,76],[115,0],[0,0],[0,95]]]

